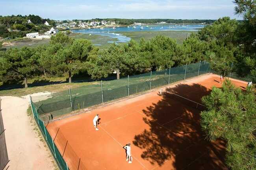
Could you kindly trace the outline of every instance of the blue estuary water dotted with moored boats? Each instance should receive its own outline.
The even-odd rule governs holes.
[[[186,25],[186,24],[164,24],[164,25],[143,25],[143,26],[129,26],[129,27],[102,27],[102,28],[91,28],[91,29],[72,29],[74,33],[85,33],[103,35],[111,38],[117,38],[115,42],[129,42],[130,37],[126,37],[119,32],[130,32],[130,31],[198,31],[205,25]],[[113,43],[113,41],[109,41]]]

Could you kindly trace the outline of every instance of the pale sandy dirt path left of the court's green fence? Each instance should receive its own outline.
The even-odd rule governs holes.
[[[27,115],[29,102],[19,97],[2,99],[2,116],[6,129],[8,170],[54,170],[56,165],[37,126]]]

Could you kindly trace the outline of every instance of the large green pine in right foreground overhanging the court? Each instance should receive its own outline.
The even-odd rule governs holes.
[[[226,141],[226,165],[232,170],[256,170],[256,96],[253,86],[246,91],[226,80],[223,88],[213,87],[202,101],[201,113],[206,139]]]

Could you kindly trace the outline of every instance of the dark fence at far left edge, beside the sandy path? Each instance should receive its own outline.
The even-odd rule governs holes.
[[[6,148],[6,138],[4,134],[5,129],[2,118],[1,101],[2,99],[0,99],[0,170],[3,170],[9,162],[9,158]]]

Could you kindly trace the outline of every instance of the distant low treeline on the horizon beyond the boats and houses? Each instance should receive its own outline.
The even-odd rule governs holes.
[[[102,21],[102,20],[107,20],[110,22],[116,22],[117,24],[120,25],[132,25],[134,24],[134,22],[136,23],[142,23],[142,24],[155,24],[155,23],[159,23],[159,22],[167,22],[167,23],[174,23],[174,24],[201,24],[201,23],[205,23],[205,24],[211,24],[213,23],[215,20],[175,20],[175,19],[121,19],[121,18],[95,18],[92,19],[94,21]],[[77,20],[78,21],[78,20]],[[83,22],[88,22],[91,20],[83,20]]]

